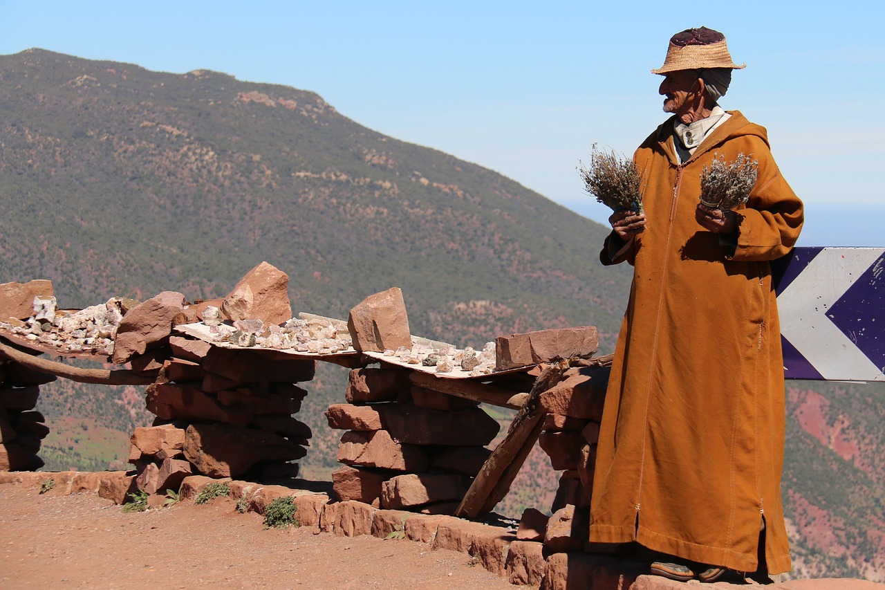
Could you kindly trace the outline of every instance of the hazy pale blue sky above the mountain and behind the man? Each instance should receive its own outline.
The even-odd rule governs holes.
[[[594,142],[632,153],[666,117],[649,70],[667,40],[712,27],[747,64],[720,103],[768,128],[804,198],[799,244],[885,245],[883,24],[883,4],[850,1],[0,0],[0,53],[40,47],[313,90],[367,127],[604,221],[578,160]]]

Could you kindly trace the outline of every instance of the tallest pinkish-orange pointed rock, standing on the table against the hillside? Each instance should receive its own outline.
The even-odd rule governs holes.
[[[221,304],[231,320],[261,320],[280,324],[292,318],[289,276],[267,262],[252,268]]]

